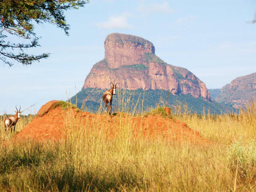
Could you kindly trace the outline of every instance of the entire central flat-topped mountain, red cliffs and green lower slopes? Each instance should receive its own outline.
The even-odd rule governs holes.
[[[95,63],[82,90],[71,98],[79,108],[103,110],[103,92],[110,89],[110,82],[118,82],[113,111],[142,112],[164,105],[199,114],[233,113],[230,106],[215,102],[206,84],[189,70],[169,65],[155,55],[150,41],[112,33],[106,37],[104,46],[105,57]]]

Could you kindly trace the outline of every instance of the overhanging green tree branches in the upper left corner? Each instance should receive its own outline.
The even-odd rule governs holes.
[[[25,52],[39,46],[34,25],[52,23],[68,35],[64,11],[78,9],[87,2],[89,0],[0,0],[0,60],[9,66],[14,65],[14,61],[30,65],[49,57],[49,54]]]

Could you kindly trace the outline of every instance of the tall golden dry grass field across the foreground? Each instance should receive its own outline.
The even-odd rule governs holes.
[[[207,146],[134,137],[131,116],[120,118],[118,137],[106,139],[96,130],[110,122],[79,124],[73,114],[65,119],[66,140],[6,144],[15,134],[4,132],[4,118],[0,191],[256,191],[254,102],[240,114],[172,112],[211,140]],[[23,116],[17,132],[32,119]]]

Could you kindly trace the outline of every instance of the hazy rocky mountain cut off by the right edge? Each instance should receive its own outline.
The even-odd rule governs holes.
[[[230,84],[222,87],[215,100],[234,108],[242,108],[254,98],[256,98],[256,73],[234,79]]]

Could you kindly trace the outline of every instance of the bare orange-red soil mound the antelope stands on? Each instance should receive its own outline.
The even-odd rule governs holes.
[[[148,117],[130,117],[126,114],[121,116],[97,115],[87,112],[76,111],[69,109],[63,111],[60,106],[53,108],[52,106],[58,101],[50,101],[43,105],[38,112],[38,116],[33,121],[26,125],[17,135],[15,139],[20,138],[32,138],[34,140],[59,140],[65,135],[65,123],[68,117],[72,114],[73,119],[76,119],[76,123],[85,124],[102,122],[101,131],[107,132],[110,136],[115,137],[122,131],[122,127],[127,124],[122,122],[128,122],[132,127],[134,135],[142,133],[144,137],[150,139],[164,138],[170,141],[178,142],[191,142],[191,143],[209,143],[209,140],[202,138],[195,130],[190,129],[184,122],[180,122],[175,119],[164,118],[159,114]],[[170,111],[166,111],[167,113]],[[121,121],[124,119],[123,121]],[[93,126],[92,126],[93,127]],[[111,130],[111,127],[119,127],[118,130]]]

